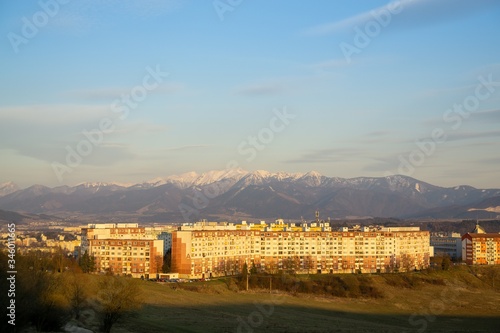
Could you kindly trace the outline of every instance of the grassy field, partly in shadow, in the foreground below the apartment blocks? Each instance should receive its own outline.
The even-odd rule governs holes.
[[[143,281],[144,306],[113,332],[500,332],[494,280],[463,266],[415,274],[445,285],[408,288],[373,275],[382,298],[340,298],[231,291],[223,280],[189,283],[197,291]]]

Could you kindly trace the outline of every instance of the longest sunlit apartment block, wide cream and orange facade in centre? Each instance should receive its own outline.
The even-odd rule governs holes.
[[[276,273],[376,273],[429,266],[418,227],[332,230],[328,222],[270,225],[198,222],[172,232],[172,270],[184,278],[234,275],[246,263]]]

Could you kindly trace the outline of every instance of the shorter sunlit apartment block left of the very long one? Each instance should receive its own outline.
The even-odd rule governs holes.
[[[95,257],[97,272],[156,277],[170,233],[137,223],[89,224],[82,228],[82,252]]]

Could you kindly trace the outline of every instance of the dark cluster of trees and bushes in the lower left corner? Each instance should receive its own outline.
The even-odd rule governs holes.
[[[9,290],[7,254],[0,251],[0,290]],[[60,331],[71,322],[92,331],[110,332],[124,315],[141,307],[137,280],[112,275],[90,275],[95,260],[84,253],[78,260],[62,250],[16,254],[15,326],[7,320],[1,332]],[[10,299],[1,298],[2,308]],[[7,318],[4,316],[4,318]]]

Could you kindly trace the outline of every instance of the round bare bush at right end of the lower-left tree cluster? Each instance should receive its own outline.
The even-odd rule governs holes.
[[[103,276],[99,281],[98,301],[105,333],[126,313],[141,307],[138,281],[119,276]]]

